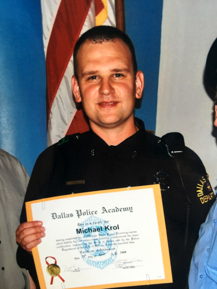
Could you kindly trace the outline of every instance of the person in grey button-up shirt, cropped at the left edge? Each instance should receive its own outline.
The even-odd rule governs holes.
[[[31,278],[16,262],[15,236],[28,181],[19,160],[0,149],[0,288],[4,289],[30,288]]]

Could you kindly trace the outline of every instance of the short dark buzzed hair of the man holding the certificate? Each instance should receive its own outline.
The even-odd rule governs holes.
[[[78,79],[78,62],[77,62],[77,54],[81,47],[81,45],[89,40],[93,43],[103,43],[105,41],[112,41],[115,39],[122,40],[130,50],[132,62],[133,62],[133,70],[135,75],[137,73],[137,61],[136,61],[136,54],[133,42],[131,41],[130,37],[122,32],[121,30],[117,29],[116,27],[112,26],[95,26],[80,36],[78,41],[76,42],[74,53],[73,53],[73,61],[74,61],[74,75]]]

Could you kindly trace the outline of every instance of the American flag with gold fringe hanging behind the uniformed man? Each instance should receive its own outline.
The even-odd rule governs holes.
[[[47,145],[89,130],[71,92],[73,50],[96,25],[115,23],[115,0],[41,0],[47,73]]]

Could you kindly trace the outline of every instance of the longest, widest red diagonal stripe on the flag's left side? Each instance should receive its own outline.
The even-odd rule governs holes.
[[[92,0],[61,1],[47,46],[47,121]],[[66,96],[69,97],[69,96]]]

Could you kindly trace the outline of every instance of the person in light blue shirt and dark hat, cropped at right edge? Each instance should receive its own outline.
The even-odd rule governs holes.
[[[211,98],[215,91],[215,121],[217,127],[217,39],[212,44],[207,55],[205,76],[208,80]],[[217,288],[217,201],[214,203],[201,225],[199,239],[192,256],[189,288]]]

